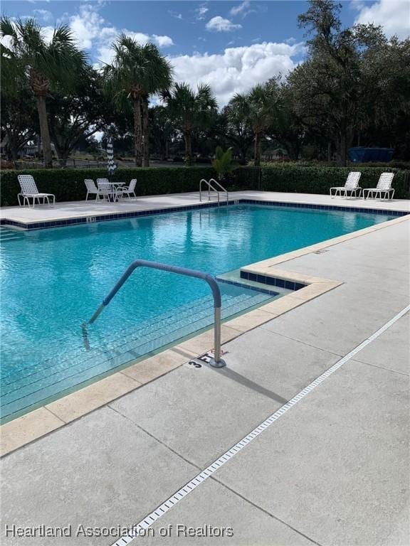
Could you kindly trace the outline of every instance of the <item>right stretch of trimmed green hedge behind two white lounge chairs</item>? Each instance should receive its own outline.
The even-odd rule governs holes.
[[[409,199],[410,171],[379,167],[271,166],[262,168],[261,190],[292,193],[329,193],[332,186],[344,186],[349,171],[360,171],[360,186],[374,188],[381,173],[394,172],[394,198]]]

